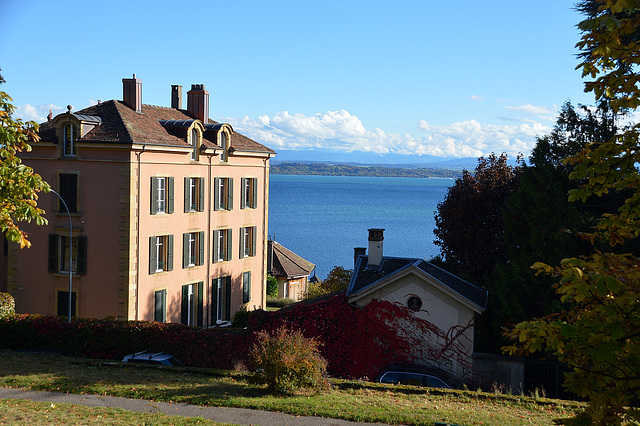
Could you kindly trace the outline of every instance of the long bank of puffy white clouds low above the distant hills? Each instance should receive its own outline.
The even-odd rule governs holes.
[[[330,152],[371,152],[376,154],[430,155],[438,157],[479,157],[492,152],[510,156],[528,155],[536,136],[551,127],[535,121],[513,125],[489,125],[467,120],[449,125],[418,123],[417,136],[366,129],[348,111],[327,111],[313,116],[279,112],[257,119],[245,116],[225,118],[237,131],[276,151],[323,150]]]

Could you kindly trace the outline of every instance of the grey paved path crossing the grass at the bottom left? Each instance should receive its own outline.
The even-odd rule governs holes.
[[[76,395],[62,392],[38,392],[0,387],[0,398],[28,399],[31,401],[68,403],[86,407],[122,408],[140,413],[163,413],[170,416],[202,417],[221,423],[236,425],[285,426],[346,426],[363,424],[324,417],[292,416],[272,411],[246,408],[202,407],[199,405],[156,402],[146,399],[120,398],[100,395]],[[382,425],[381,423],[366,423]]]

